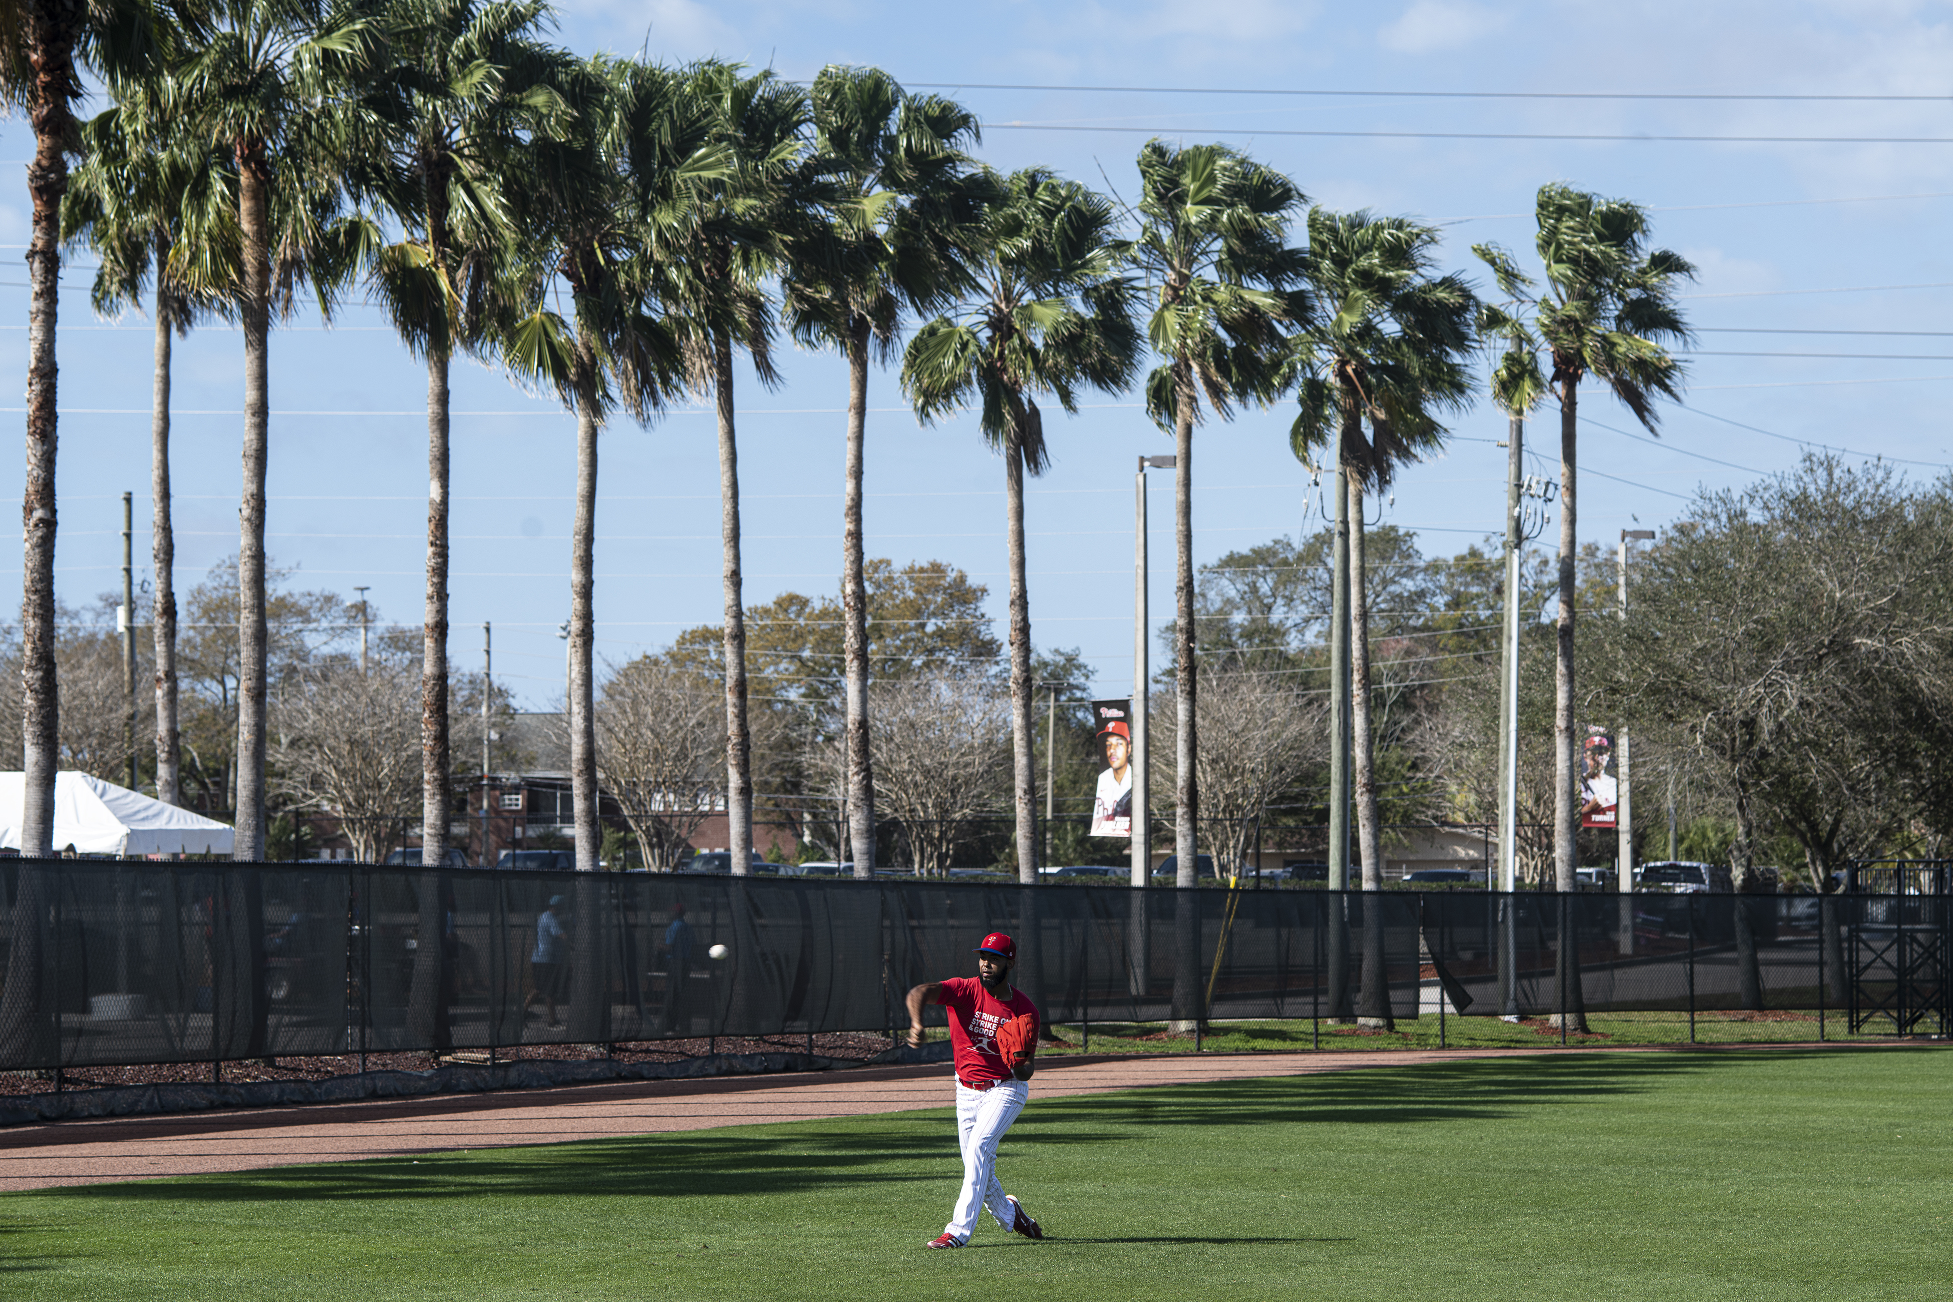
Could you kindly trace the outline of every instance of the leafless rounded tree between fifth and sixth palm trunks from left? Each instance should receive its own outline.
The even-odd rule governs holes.
[[[596,726],[603,791],[631,824],[644,865],[670,873],[699,824],[725,810],[723,691],[699,673],[641,656],[611,668]]]

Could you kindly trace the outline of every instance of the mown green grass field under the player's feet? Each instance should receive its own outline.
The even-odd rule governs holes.
[[[1953,1058],[1580,1054],[0,1197],[27,1298],[1943,1298]]]

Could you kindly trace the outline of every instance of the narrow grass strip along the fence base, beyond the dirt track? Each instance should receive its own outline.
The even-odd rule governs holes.
[[[1762,1019],[1758,1019],[1762,1017]],[[1891,1042],[1892,1037],[1851,1035],[1844,1013],[1830,1013],[1824,1019],[1824,1038],[1836,1042]],[[1166,1035],[1166,1023],[1101,1023],[1090,1027],[1064,1023],[1057,1027],[1064,1044],[1047,1044],[1039,1052],[1055,1054],[1176,1054],[1193,1052],[1191,1035]],[[1697,1013],[1695,1044],[1797,1044],[1816,1042],[1818,1015],[1805,1013]],[[1547,1048],[1558,1046],[1560,1033],[1545,1017],[1527,1017],[1521,1023],[1498,1017],[1445,1017],[1439,1025],[1435,1013],[1424,1017],[1398,1019],[1394,1031],[1373,1031],[1367,1027],[1338,1027],[1328,1021],[1312,1025],[1309,1019],[1289,1021],[1215,1021],[1201,1037],[1201,1048],[1211,1052],[1256,1052],[1256,1050],[1361,1050],[1377,1052],[1385,1048]],[[1568,1044],[1623,1046],[1623,1044],[1689,1044],[1687,1013],[1588,1013],[1588,1035],[1568,1035]]]

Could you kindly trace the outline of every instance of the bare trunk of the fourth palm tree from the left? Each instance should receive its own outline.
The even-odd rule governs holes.
[[[453,1046],[447,1023],[447,347],[428,344],[428,595],[420,623],[420,929],[408,988],[408,1033],[434,1050]]]

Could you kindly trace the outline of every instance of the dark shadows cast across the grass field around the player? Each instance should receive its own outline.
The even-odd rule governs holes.
[[[1426,1124],[1494,1120],[1656,1089],[1769,1062],[1853,1056],[1849,1048],[1728,1054],[1594,1054],[1361,1068],[1314,1076],[1172,1085],[1037,1101],[1014,1146],[1129,1142],[1162,1126]],[[945,1109],[832,1122],[728,1126],[537,1148],[475,1150],[273,1167],[172,1181],[47,1189],[35,1197],[105,1206],[475,1197],[699,1199],[807,1195],[891,1183],[939,1185],[955,1169]],[[1256,1243],[1332,1240],[1070,1240],[1100,1243]]]

